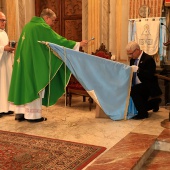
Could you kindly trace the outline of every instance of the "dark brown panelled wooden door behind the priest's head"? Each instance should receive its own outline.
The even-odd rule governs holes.
[[[53,29],[70,40],[82,40],[82,0],[35,0],[35,15],[44,8],[52,9],[57,16]]]

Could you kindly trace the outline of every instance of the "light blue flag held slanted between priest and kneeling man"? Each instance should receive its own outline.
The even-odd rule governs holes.
[[[132,69],[130,66],[48,43],[93,100],[113,120],[127,118]]]

